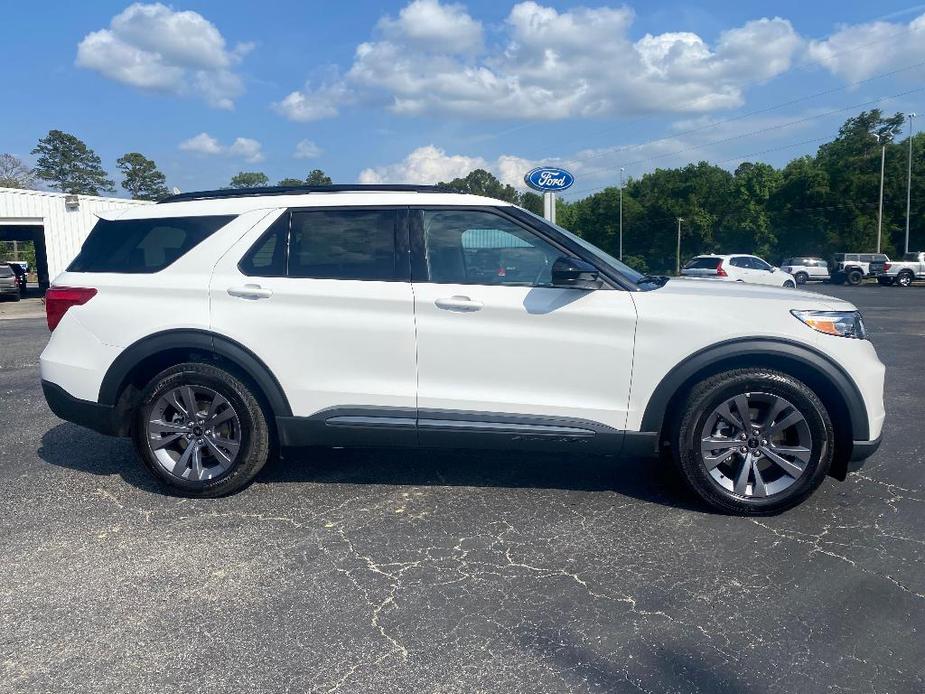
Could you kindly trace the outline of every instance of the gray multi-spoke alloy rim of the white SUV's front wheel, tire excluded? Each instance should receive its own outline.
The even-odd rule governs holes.
[[[779,494],[806,470],[812,434],[800,411],[770,393],[742,393],[707,417],[701,456],[713,482],[753,499]]]

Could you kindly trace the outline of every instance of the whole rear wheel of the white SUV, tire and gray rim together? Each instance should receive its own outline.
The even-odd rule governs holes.
[[[171,367],[145,388],[133,427],[145,465],[188,496],[246,486],[270,450],[266,417],[249,388],[208,364]]]

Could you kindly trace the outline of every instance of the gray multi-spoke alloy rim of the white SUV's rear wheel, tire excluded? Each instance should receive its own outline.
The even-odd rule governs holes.
[[[148,445],[170,475],[191,482],[227,472],[241,448],[241,420],[211,388],[182,385],[164,393],[145,424]]]

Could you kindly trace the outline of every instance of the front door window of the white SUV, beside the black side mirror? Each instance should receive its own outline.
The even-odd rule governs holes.
[[[523,227],[490,212],[424,210],[428,277],[443,284],[549,286],[565,255]]]

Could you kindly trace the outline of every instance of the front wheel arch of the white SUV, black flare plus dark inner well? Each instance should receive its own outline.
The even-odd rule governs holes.
[[[819,396],[835,425],[835,458],[830,474],[844,479],[854,440],[867,440],[870,425],[858,387],[827,355],[807,345],[775,338],[730,340],[685,358],[659,382],[642,418],[642,431],[665,439],[666,427],[687,393],[704,378],[729,369],[770,368],[800,379]],[[660,443],[661,445],[661,443]]]

